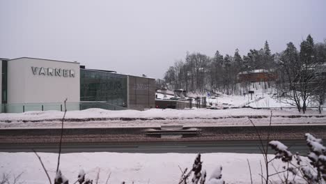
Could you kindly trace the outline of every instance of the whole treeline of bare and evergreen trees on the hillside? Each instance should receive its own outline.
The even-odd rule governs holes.
[[[240,83],[238,74],[250,74],[261,69],[273,73],[267,76],[277,76],[264,78],[264,89],[273,83],[278,91],[277,97],[297,107],[299,112],[306,112],[308,102],[321,112],[326,94],[326,40],[315,44],[310,35],[302,40],[300,49],[288,43],[281,53],[272,54],[267,41],[263,48],[250,49],[244,56],[240,56],[238,49],[235,49],[233,56],[223,56],[219,51],[212,57],[187,53],[185,59],[177,61],[166,71],[164,82],[158,85],[171,91],[221,91],[240,95],[247,92],[251,79]]]

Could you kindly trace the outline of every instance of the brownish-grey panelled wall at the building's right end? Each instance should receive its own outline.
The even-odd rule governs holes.
[[[155,108],[155,79],[127,77],[128,104],[130,109]]]

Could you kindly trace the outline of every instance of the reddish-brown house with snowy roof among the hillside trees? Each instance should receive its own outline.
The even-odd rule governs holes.
[[[237,76],[239,82],[268,82],[277,79],[274,70],[250,70],[240,72]]]

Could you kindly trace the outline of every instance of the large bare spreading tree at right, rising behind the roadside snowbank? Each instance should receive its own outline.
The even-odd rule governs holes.
[[[293,43],[288,43],[286,50],[280,59],[280,70],[285,77],[285,83],[281,85],[284,102],[295,105],[299,112],[306,112],[307,100],[313,93],[320,89],[321,80],[318,68],[322,63],[318,62],[313,50],[313,40],[309,35],[300,45],[300,53]]]

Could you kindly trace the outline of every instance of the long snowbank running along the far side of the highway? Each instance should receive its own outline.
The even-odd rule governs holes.
[[[249,118],[256,124],[270,123],[268,109],[148,109],[109,111],[86,109],[68,111],[65,127],[151,127],[160,125],[250,125]],[[273,110],[272,124],[326,123],[326,115],[316,111],[300,114],[295,109]],[[63,112],[25,112],[0,114],[0,128],[54,128],[60,127]]]

